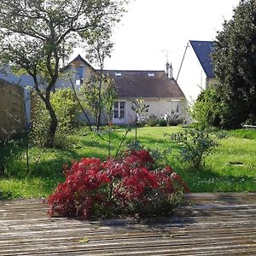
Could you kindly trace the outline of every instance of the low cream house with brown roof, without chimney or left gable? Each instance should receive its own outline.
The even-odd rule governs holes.
[[[176,81],[165,71],[132,71],[106,70],[106,73],[115,81],[118,88],[119,100],[113,106],[113,123],[132,124],[135,113],[131,104],[137,98],[142,98],[149,106],[148,112],[154,113],[157,118],[166,113],[175,112],[183,115],[185,97]]]

